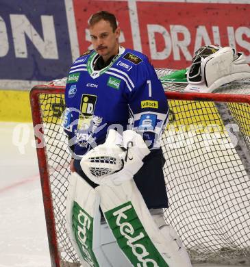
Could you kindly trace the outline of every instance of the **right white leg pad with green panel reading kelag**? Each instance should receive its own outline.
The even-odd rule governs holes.
[[[105,219],[132,266],[179,267],[171,265],[165,249],[168,244],[133,179],[119,185],[102,184],[96,190]]]

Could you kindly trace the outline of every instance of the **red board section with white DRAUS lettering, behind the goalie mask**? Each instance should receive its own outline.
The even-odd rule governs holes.
[[[188,66],[204,44],[232,45],[249,55],[250,5],[138,2],[137,11],[142,51],[155,66]]]

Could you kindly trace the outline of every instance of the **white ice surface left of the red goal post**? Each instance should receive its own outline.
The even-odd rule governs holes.
[[[49,267],[36,149],[31,144],[32,124],[25,124],[18,132],[17,127],[20,124],[0,123],[0,266]],[[25,134],[28,142],[24,151],[13,144],[13,134],[19,142]]]

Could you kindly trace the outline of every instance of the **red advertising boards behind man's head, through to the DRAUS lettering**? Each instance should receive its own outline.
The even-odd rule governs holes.
[[[147,54],[155,67],[184,68],[204,44],[236,47],[250,62],[250,4],[133,3],[75,0],[80,51],[91,44],[88,18],[99,10],[108,10],[116,15],[122,29],[121,44]]]

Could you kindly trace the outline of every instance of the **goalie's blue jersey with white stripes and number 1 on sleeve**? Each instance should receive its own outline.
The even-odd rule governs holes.
[[[109,66],[95,71],[98,58],[94,50],[87,51],[68,73],[64,129],[75,155],[105,142],[108,129],[134,129],[150,149],[159,148],[168,104],[147,56],[120,47]]]

